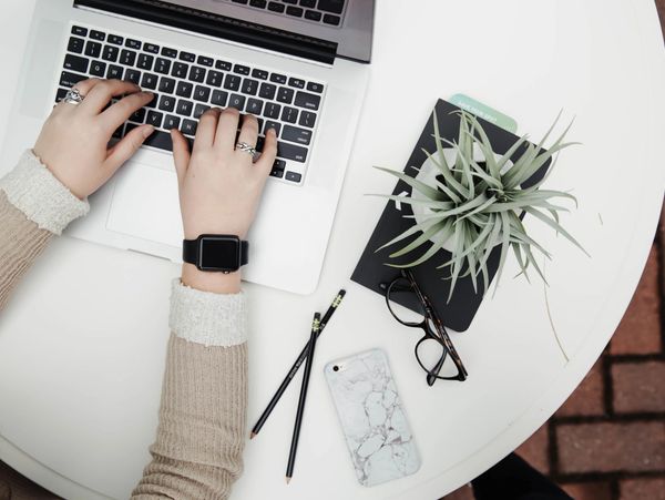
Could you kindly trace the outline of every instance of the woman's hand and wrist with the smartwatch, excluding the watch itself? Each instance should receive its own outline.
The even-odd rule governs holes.
[[[260,157],[253,163],[250,154],[235,149],[239,121],[241,114],[234,108],[205,112],[191,154],[183,134],[171,131],[186,239],[202,234],[229,234],[244,239],[254,222],[277,154],[277,139],[270,129]],[[254,146],[257,137],[256,118],[244,115],[237,141]],[[206,292],[236,293],[241,287],[239,272],[205,273],[192,264],[183,265],[182,279]]]

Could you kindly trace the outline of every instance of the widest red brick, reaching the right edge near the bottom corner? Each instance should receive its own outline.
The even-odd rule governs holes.
[[[560,425],[556,442],[564,473],[665,470],[665,422]]]

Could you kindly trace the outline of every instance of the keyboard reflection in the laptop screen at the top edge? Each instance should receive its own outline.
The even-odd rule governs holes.
[[[264,9],[287,18],[339,27],[346,0],[215,0]]]

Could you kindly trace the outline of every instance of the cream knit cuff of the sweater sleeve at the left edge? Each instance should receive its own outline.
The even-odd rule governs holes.
[[[40,229],[57,235],[90,211],[88,200],[74,196],[30,150],[0,178],[0,190]]]

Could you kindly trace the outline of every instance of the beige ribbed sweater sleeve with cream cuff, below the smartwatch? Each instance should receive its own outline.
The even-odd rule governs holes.
[[[133,499],[225,499],[243,469],[246,299],[174,282],[152,461]]]

